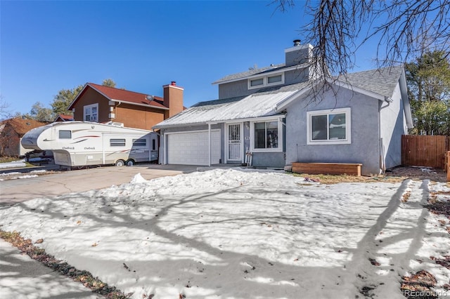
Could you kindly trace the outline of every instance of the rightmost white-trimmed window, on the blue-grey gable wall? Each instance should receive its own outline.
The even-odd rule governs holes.
[[[307,112],[307,144],[349,144],[350,108]]]

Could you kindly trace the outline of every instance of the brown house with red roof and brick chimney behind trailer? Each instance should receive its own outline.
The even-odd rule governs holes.
[[[184,109],[184,88],[176,86],[174,81],[162,87],[164,96],[160,98],[87,83],[68,109],[72,110],[75,121],[112,121],[129,128],[151,130],[155,124]]]

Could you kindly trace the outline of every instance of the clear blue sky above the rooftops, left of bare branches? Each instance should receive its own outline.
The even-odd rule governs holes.
[[[0,94],[10,112],[50,107],[61,89],[103,79],[162,95],[184,87],[184,105],[217,98],[213,81],[284,62],[302,39],[304,3],[269,1],[0,1]],[[307,41],[303,41],[307,42]],[[373,67],[364,50],[360,69]]]

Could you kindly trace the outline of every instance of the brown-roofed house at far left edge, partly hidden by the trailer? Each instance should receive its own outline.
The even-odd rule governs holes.
[[[23,135],[32,128],[44,126],[48,123],[35,121],[34,119],[13,118],[0,122],[0,156],[20,157],[25,156],[27,150],[22,147],[20,141]]]

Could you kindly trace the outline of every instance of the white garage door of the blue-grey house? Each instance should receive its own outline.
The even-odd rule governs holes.
[[[211,164],[219,164],[220,130],[211,131]],[[209,165],[208,132],[167,134],[167,164]]]

